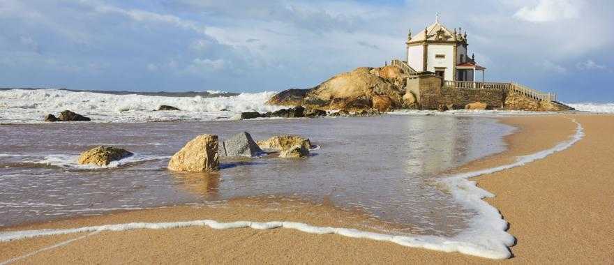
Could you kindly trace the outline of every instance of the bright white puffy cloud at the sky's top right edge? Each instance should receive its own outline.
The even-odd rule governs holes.
[[[514,17],[528,22],[551,22],[580,17],[581,1],[539,0],[535,6],[523,6]]]

